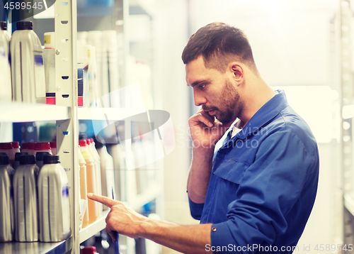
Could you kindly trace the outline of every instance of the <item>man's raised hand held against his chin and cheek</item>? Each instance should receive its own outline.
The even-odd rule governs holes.
[[[210,116],[207,111],[200,109],[189,118],[188,124],[193,148],[214,148],[232,122],[221,123],[214,116]]]

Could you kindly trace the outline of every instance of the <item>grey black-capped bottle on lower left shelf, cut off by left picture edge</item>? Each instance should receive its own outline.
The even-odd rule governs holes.
[[[0,155],[0,242],[13,241],[15,221],[13,214],[13,168],[7,155]]]

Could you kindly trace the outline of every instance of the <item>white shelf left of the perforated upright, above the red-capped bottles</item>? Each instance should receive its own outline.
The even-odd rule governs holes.
[[[2,122],[56,121],[69,118],[67,106],[9,102],[0,103],[0,109]]]

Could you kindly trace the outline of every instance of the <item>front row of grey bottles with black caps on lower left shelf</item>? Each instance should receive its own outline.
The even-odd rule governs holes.
[[[11,152],[0,154],[0,241],[57,242],[71,236],[69,182],[59,156],[15,153],[11,165]]]

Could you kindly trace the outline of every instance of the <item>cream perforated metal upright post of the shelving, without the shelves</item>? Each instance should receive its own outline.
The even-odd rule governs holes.
[[[80,253],[79,246],[79,142],[77,118],[76,68],[76,0],[55,1],[55,101],[71,110],[69,118],[57,121],[57,154],[62,166],[68,169],[69,199],[72,228],[71,253]]]

